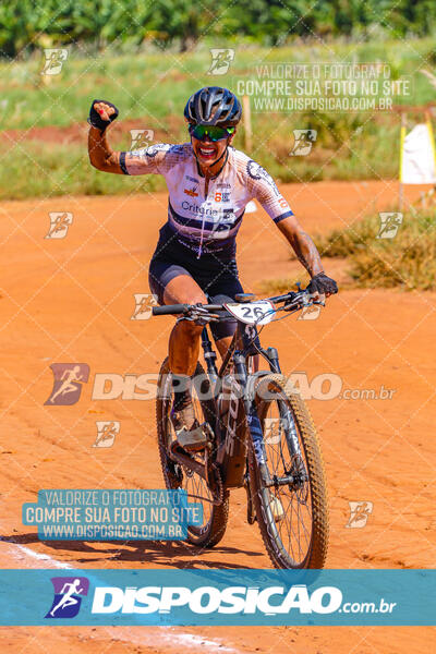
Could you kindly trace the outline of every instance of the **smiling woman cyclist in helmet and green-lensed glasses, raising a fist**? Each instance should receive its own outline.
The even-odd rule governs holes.
[[[207,86],[184,109],[190,143],[157,144],[136,152],[113,152],[106,128],[118,117],[111,102],[94,100],[88,122],[92,165],[119,174],[162,174],[169,192],[168,221],[149,267],[149,286],[161,304],[222,304],[243,289],[238,278],[235,237],[245,205],[256,198],[292,245],[311,275],[308,290],[320,298],[338,292],[324,274],[319,254],[303,231],[271,177],[231,142],[241,120],[238,98],[227,88]],[[195,449],[191,400],[202,325],[179,319],[170,336],[169,366],[174,401],[171,420],[183,447]],[[234,331],[231,318],[211,324],[221,356]],[[191,435],[191,439],[190,439]]]

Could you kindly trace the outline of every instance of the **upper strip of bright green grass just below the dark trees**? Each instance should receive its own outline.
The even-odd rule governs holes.
[[[231,45],[231,44],[230,44]],[[234,47],[234,44],[233,44]],[[299,45],[283,48],[235,46],[235,60],[226,75],[210,76],[210,55],[203,44],[194,52],[142,52],[114,56],[108,48],[88,58],[71,51],[60,75],[43,84],[43,57],[36,52],[27,61],[0,61],[0,118],[3,130],[33,125],[68,125],[86,119],[90,100],[111,99],[123,118],[152,117],[157,122],[181,116],[187,96],[196,88],[216,83],[234,87],[238,80],[253,75],[262,63],[386,62],[393,77],[411,75],[413,94],[405,104],[434,100],[434,89],[417,72],[434,66],[434,41],[411,40],[379,44]],[[433,62],[433,63],[432,63]],[[398,104],[402,100],[398,99]],[[254,122],[257,118],[254,116]]]

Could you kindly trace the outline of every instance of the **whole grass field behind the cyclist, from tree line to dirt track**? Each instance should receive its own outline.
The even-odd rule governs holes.
[[[211,44],[213,46],[216,44]],[[223,45],[223,44],[220,44]],[[120,119],[136,119],[155,130],[158,140],[183,142],[186,131],[183,107],[187,96],[206,84],[237,87],[238,80],[253,76],[258,63],[386,62],[393,77],[410,75],[413,96],[407,104],[423,105],[434,99],[428,80],[416,72],[433,70],[432,39],[298,45],[266,49],[247,44],[235,47],[229,73],[210,76],[210,55],[206,44],[194,52],[113,55],[110,49],[94,57],[71,51],[62,73],[43,84],[41,56],[22,62],[0,61],[0,120],[2,130],[28,130],[72,123],[85,124],[90,100],[96,96],[113,101]],[[401,102],[401,98],[396,100]],[[254,144],[249,154],[281,182],[384,178],[398,173],[399,118],[391,112],[288,112],[252,114]],[[294,129],[317,130],[310,156],[291,157]],[[58,145],[26,136],[21,147],[0,145],[0,197],[19,198],[63,193],[125,193],[132,187],[165,189],[160,179],[125,180],[94,171],[86,145]],[[114,147],[129,147],[128,134],[111,140]],[[245,149],[243,129],[234,145]],[[24,152],[23,152],[24,150]],[[389,153],[389,156],[386,154]],[[11,170],[13,174],[11,175]],[[37,171],[37,174],[35,174]]]

